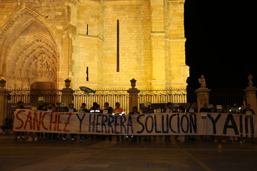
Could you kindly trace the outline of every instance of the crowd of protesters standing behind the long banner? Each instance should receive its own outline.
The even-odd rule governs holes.
[[[23,102],[19,101],[17,103],[17,107],[15,107],[15,109],[13,109],[13,111],[15,111],[16,109],[24,109],[23,106]],[[213,107],[210,109],[207,107],[207,103],[203,103],[203,107],[200,108],[199,113],[205,112],[205,113],[224,113],[223,110],[217,112],[217,109],[214,109],[214,105]],[[115,109],[113,109],[112,107],[109,107],[109,103],[105,102],[104,104],[104,109],[100,109],[100,105],[97,104],[96,102],[93,103],[93,106],[90,107],[89,109],[86,108],[86,104],[82,103],[81,107],[79,109],[79,111],[77,111],[74,108],[74,104],[70,103],[69,107],[64,107],[61,109],[60,107],[60,103],[44,103],[43,104],[38,104],[37,105],[37,110],[40,111],[48,111],[48,109],[52,110],[51,112],[70,112],[71,109],[73,109],[73,112],[93,112],[93,113],[103,113],[104,110],[106,110],[105,113],[108,114],[112,114],[112,115],[125,115],[125,111],[120,108],[120,103],[117,102],[115,103]],[[197,110],[194,107],[194,103],[190,103],[190,107],[188,109],[185,109],[183,106],[179,106],[178,109],[172,109],[172,103],[167,103],[167,108],[165,109],[161,109],[161,107],[158,107],[158,109],[160,109],[161,113],[189,113],[190,109],[193,109],[193,113],[197,113]],[[240,113],[241,114],[245,114],[246,115],[246,111],[251,111],[252,115],[255,115],[254,111],[252,109],[250,109],[250,104],[246,103],[245,105],[245,109],[243,109]],[[151,107],[143,107],[142,109],[142,113],[155,113],[154,109],[152,109]],[[227,113],[238,113],[238,112],[234,112],[234,111],[228,111]],[[133,107],[132,112],[129,113],[129,115],[139,115],[140,112],[138,111],[138,108],[136,106]],[[2,134],[5,133],[13,133],[12,132],[12,126],[13,126],[13,121],[11,119],[6,118],[5,119],[5,125],[1,125],[1,129],[2,129]],[[7,131],[6,131],[7,130]],[[108,137],[109,141],[112,141],[112,135],[86,135],[86,134],[67,134],[67,133],[60,133],[58,135],[58,133],[34,133],[34,141],[38,141],[38,140],[43,140],[43,137],[45,135],[45,140],[46,141],[56,141],[56,140],[62,140],[62,141],[66,141],[69,139],[69,137],[71,137],[71,141],[87,141],[87,138],[90,138],[90,141],[94,141],[94,139],[96,139],[96,141],[105,141],[105,138]],[[116,141],[120,141],[120,137],[121,137],[121,141],[125,142],[128,139],[131,139],[131,141],[141,141],[141,138],[144,137],[144,139],[142,141],[152,141],[152,137],[153,137],[153,141],[156,141],[156,136],[150,136],[150,135],[145,135],[145,136],[133,136],[133,135],[126,135],[126,138],[124,137],[124,135],[116,135]],[[191,141],[191,142],[196,142],[196,136],[195,135],[176,135],[174,136],[175,140],[180,141],[180,142],[184,142],[184,141]],[[213,136],[213,135],[201,135],[200,136],[201,139],[206,140],[206,141],[214,141],[214,142],[218,142],[218,139],[220,139],[221,142],[226,143],[226,141],[224,140],[225,136]],[[229,137],[230,138],[230,142],[239,142],[238,137]],[[242,142],[246,142],[247,137],[243,137]],[[15,132],[15,139],[16,140],[20,140],[20,141],[24,141],[25,137],[24,137],[24,132]],[[256,141],[254,141],[254,138],[251,138],[253,143],[256,143]],[[33,132],[29,133],[29,138],[27,139],[27,141],[33,141]],[[171,142],[172,140],[170,139],[170,135],[165,135],[165,139],[162,140],[162,135],[159,135],[159,142]]]

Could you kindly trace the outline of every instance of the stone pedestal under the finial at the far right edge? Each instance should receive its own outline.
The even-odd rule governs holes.
[[[254,112],[257,112],[257,101],[256,101],[256,90],[257,88],[254,86],[249,86],[244,89],[246,93],[246,101],[251,105],[251,109],[254,110]]]

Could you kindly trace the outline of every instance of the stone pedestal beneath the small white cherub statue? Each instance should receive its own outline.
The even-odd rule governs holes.
[[[203,107],[203,103],[206,102],[209,104],[209,92],[211,89],[208,88],[198,88],[194,92],[197,94],[197,111],[199,112],[200,108]]]

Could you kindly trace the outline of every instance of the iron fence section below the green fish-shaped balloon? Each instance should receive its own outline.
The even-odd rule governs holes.
[[[77,110],[80,109],[82,103],[86,103],[86,108],[89,109],[94,102],[97,102],[101,109],[104,109],[105,102],[108,102],[113,109],[115,108],[115,103],[119,102],[125,114],[128,114],[128,93],[125,89],[96,89],[96,93],[89,94],[76,90],[73,93],[74,108]]]

